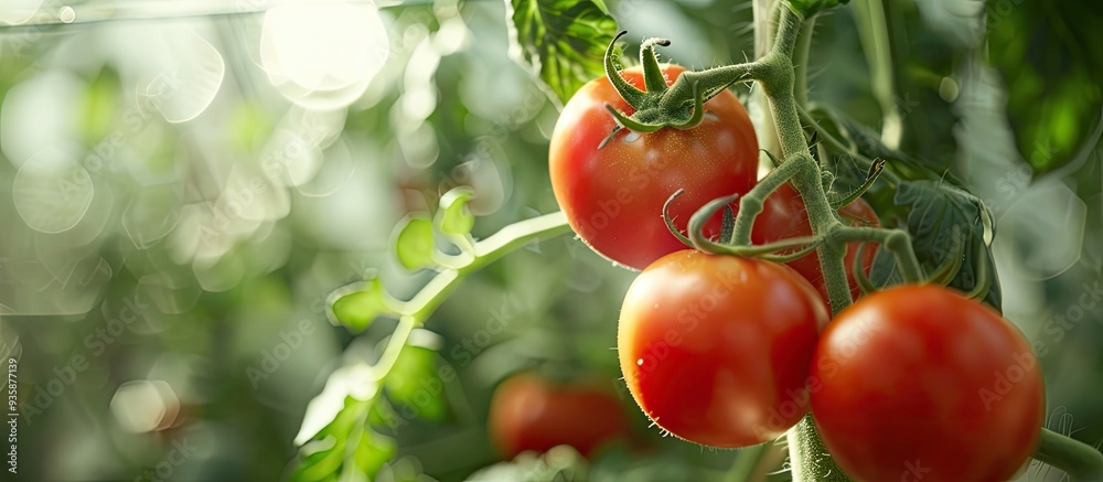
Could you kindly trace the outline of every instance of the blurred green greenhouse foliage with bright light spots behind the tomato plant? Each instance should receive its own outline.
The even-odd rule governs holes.
[[[1103,13],[1069,0],[852,3],[817,22],[811,100],[874,129],[895,113],[901,150],[988,203],[1004,312],[1043,364],[1049,427],[1097,444]],[[630,44],[673,40],[668,61],[754,55],[750,2],[608,4]],[[870,9],[887,36],[870,33]],[[286,475],[308,403],[350,361],[378,357],[395,326],[353,336],[326,320],[325,298],[372,274],[406,298],[431,276],[390,251],[403,216],[459,185],[475,191],[476,237],[556,210],[556,103],[515,62],[505,20],[492,0],[6,0],[0,341],[18,360],[19,480]],[[382,429],[396,452],[378,478],[459,480],[499,461],[485,420],[511,373],[569,367],[617,387],[610,349],[632,278],[564,236],[467,279],[415,333],[431,350],[399,369],[459,376]],[[489,334],[495,317],[505,329]],[[662,438],[624,408],[649,448],[593,460],[592,478],[731,467],[735,451]]]

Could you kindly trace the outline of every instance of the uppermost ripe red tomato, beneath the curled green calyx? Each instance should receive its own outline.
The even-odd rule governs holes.
[[[667,83],[684,71],[663,67]],[[623,76],[643,88],[639,67]],[[662,218],[663,203],[677,190],[685,193],[671,205],[671,216],[684,232],[698,207],[754,185],[758,140],[747,110],[730,92],[706,103],[705,120],[693,129],[622,130],[598,149],[617,126],[606,104],[633,113],[608,78],[591,81],[559,115],[548,152],[556,201],[575,233],[602,256],[643,269],[685,249]],[[719,214],[710,221],[707,236],[720,234],[720,221]]]

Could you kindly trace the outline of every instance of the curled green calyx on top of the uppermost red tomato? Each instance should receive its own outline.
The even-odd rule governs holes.
[[[632,107],[634,113],[628,115],[612,105],[606,104],[609,114],[617,120],[617,127],[606,138],[606,142],[621,129],[641,133],[654,132],[664,127],[681,130],[693,129],[700,125],[705,118],[705,103],[739,79],[738,76],[731,75],[728,69],[687,71],[675,81],[677,88],[667,86],[655,47],[668,46],[671,41],[653,38],[645,40],[640,45],[640,65],[643,68],[645,90],[640,89],[621,76],[621,68],[618,65],[614,46],[617,41],[627,33],[628,31],[621,31],[609,43],[606,49],[604,67],[606,76],[609,77],[617,94]],[[601,144],[604,146],[606,142]]]

